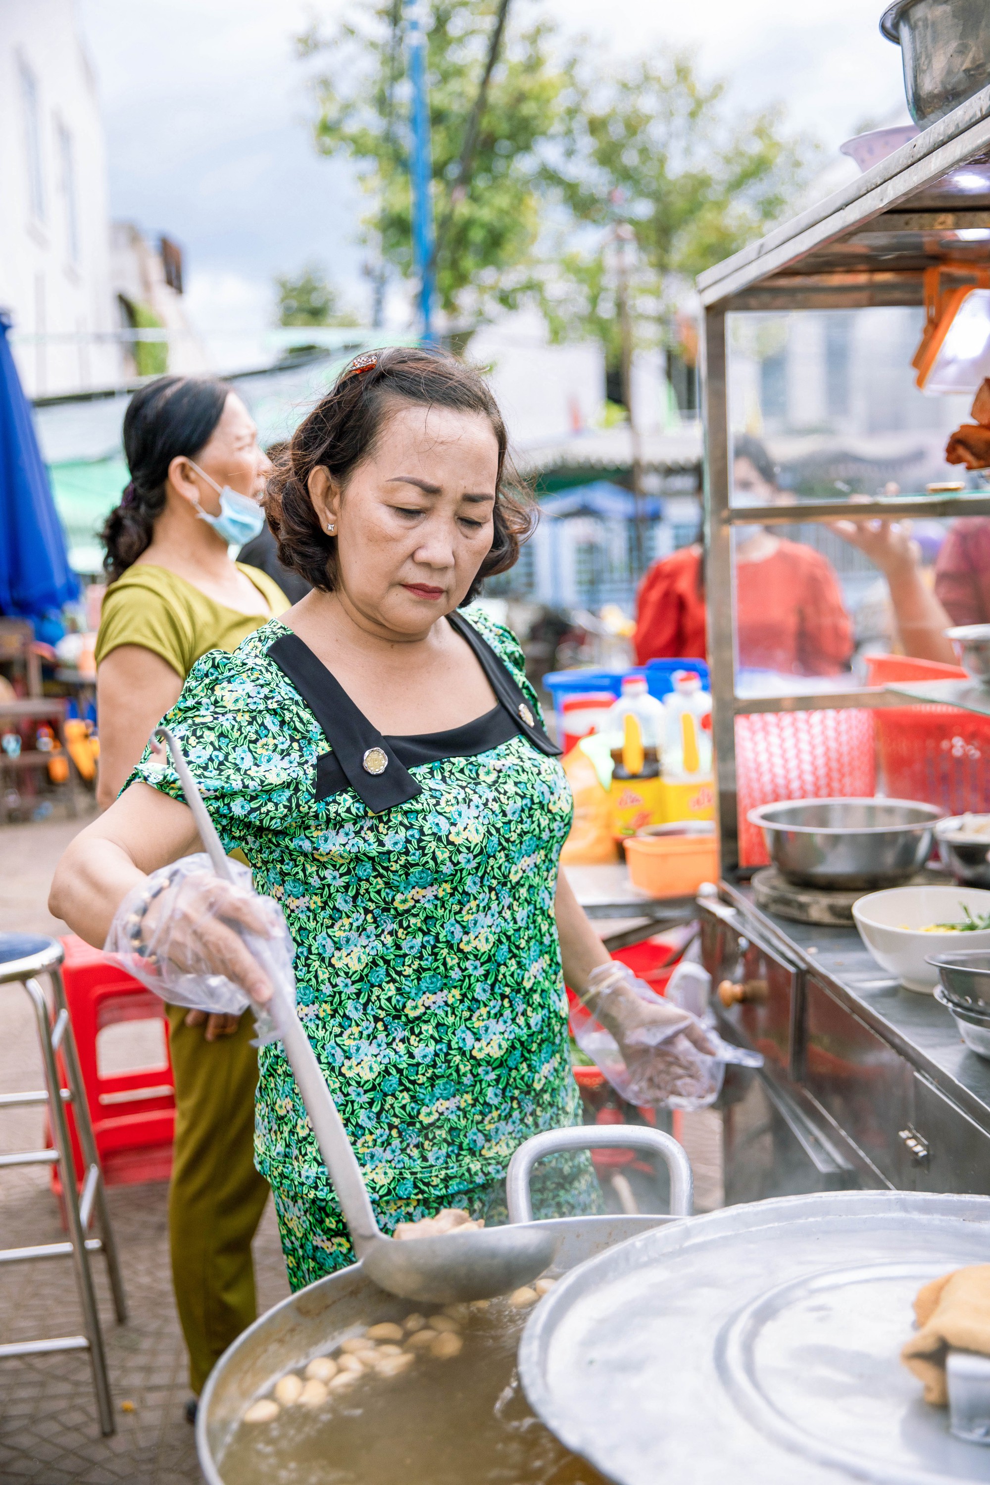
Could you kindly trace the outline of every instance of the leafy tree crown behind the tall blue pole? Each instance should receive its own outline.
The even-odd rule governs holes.
[[[454,192],[468,119],[484,71],[496,0],[435,0],[427,36],[433,211],[444,241],[436,261],[438,296],[448,313],[473,310],[499,296],[506,276],[533,252],[545,195],[542,157],[561,116],[564,71],[551,61],[551,27],[508,27],[488,86],[466,189]],[[533,0],[517,0],[533,13]],[[413,275],[408,183],[408,88],[398,0],[365,0],[355,21],[330,37],[310,33],[301,46],[321,52],[316,143],[347,154],[370,196],[368,236],[402,276]]]

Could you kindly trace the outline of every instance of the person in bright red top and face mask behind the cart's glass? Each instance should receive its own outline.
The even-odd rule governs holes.
[[[739,499],[742,497],[742,499]],[[776,505],[776,469],[755,438],[735,440],[733,503]],[[785,676],[837,676],[849,667],[852,625],[831,563],[763,527],[738,527],[739,665]],[[637,662],[707,653],[705,578],[699,545],[663,557],[637,601]]]

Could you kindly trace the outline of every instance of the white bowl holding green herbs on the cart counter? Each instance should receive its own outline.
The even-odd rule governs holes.
[[[956,922],[963,906],[990,913],[990,892],[977,887],[891,887],[852,904],[859,937],[877,964],[908,990],[931,995],[938,970],[926,959],[953,949],[990,949],[990,928],[977,933],[919,933],[925,924]],[[904,924],[914,925],[917,928]]]

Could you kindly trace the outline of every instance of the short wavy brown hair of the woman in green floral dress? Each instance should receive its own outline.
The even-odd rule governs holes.
[[[362,362],[374,364],[356,370]],[[304,417],[286,448],[275,459],[264,500],[269,526],[279,544],[279,561],[315,588],[332,593],[337,585],[337,539],[319,524],[309,496],[309,477],[324,468],[338,486],[368,459],[389,416],[402,402],[481,413],[491,423],[499,446],[494,536],[471,590],[478,597],[485,578],[508,572],[519,545],[536,526],[533,499],[508,459],[502,413],[484,379],[457,356],[414,346],[358,356]]]

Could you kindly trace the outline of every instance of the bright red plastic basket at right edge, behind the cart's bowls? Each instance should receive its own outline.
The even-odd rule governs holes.
[[[904,655],[870,655],[870,685],[898,680],[965,680],[966,671]],[[990,811],[990,717],[959,707],[919,704],[876,713],[885,793],[920,799],[950,815]]]

